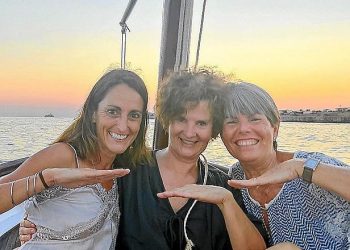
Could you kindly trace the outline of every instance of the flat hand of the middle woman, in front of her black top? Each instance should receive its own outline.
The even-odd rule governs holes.
[[[159,198],[182,197],[222,205],[233,198],[232,193],[218,186],[189,184],[174,190],[158,193]]]

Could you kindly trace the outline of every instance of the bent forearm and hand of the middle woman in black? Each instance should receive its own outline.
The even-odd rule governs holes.
[[[224,216],[232,248],[266,248],[265,242],[259,231],[239,207],[232,193],[223,187],[191,184],[172,191],[159,193],[158,197],[192,198],[202,202],[216,204]]]

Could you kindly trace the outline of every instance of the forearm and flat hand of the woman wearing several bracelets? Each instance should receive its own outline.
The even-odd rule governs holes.
[[[95,184],[128,174],[128,169],[95,170],[88,168],[50,168],[42,171],[42,178],[49,187],[60,185],[68,188]],[[9,183],[0,184],[0,213],[45,189],[39,174]]]

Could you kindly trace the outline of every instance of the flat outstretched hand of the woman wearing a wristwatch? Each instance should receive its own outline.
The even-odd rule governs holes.
[[[264,174],[249,180],[229,180],[228,184],[234,188],[250,188],[267,184],[280,184],[298,178],[302,171],[302,160],[288,160],[269,169]]]

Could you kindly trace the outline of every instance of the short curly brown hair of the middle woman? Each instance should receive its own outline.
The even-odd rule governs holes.
[[[161,85],[155,111],[165,131],[171,121],[195,107],[200,101],[208,101],[213,119],[212,138],[222,129],[224,119],[224,80],[208,70],[182,71],[170,74]]]

